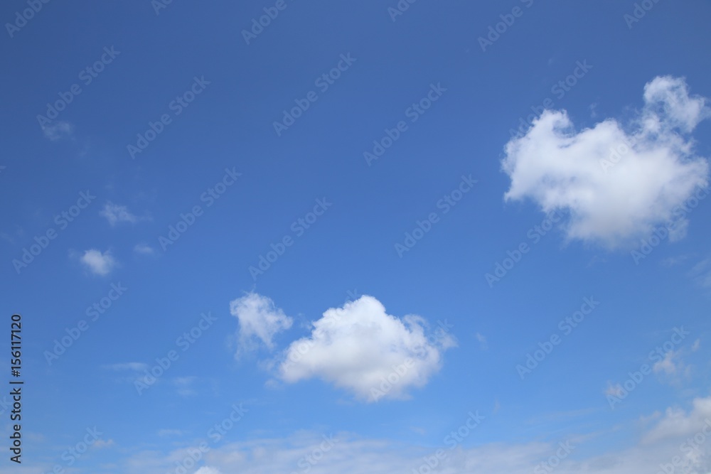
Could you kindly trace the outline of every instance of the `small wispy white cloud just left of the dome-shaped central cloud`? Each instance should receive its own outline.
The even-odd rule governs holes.
[[[274,301],[254,292],[230,301],[230,314],[240,323],[237,355],[255,350],[259,341],[269,350],[274,349],[274,335],[291,328],[293,323],[292,318],[274,306]]]

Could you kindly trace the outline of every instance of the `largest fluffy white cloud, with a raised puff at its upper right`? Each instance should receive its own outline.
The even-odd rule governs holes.
[[[565,211],[568,239],[618,247],[670,220],[677,224],[673,238],[683,237],[687,221],[678,206],[708,176],[688,133],[710,115],[705,99],[690,97],[685,80],[675,77],[645,86],[629,130],[607,119],[577,132],[565,111],[547,110],[506,144],[502,168],[511,185],[504,198]]]

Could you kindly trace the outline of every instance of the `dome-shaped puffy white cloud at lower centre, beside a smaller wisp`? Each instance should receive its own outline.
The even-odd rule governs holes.
[[[442,366],[444,350],[455,345],[447,333],[426,335],[424,319],[400,320],[372,296],[328,309],[308,338],[294,341],[279,365],[285,382],[319,377],[358,399],[404,398]]]

